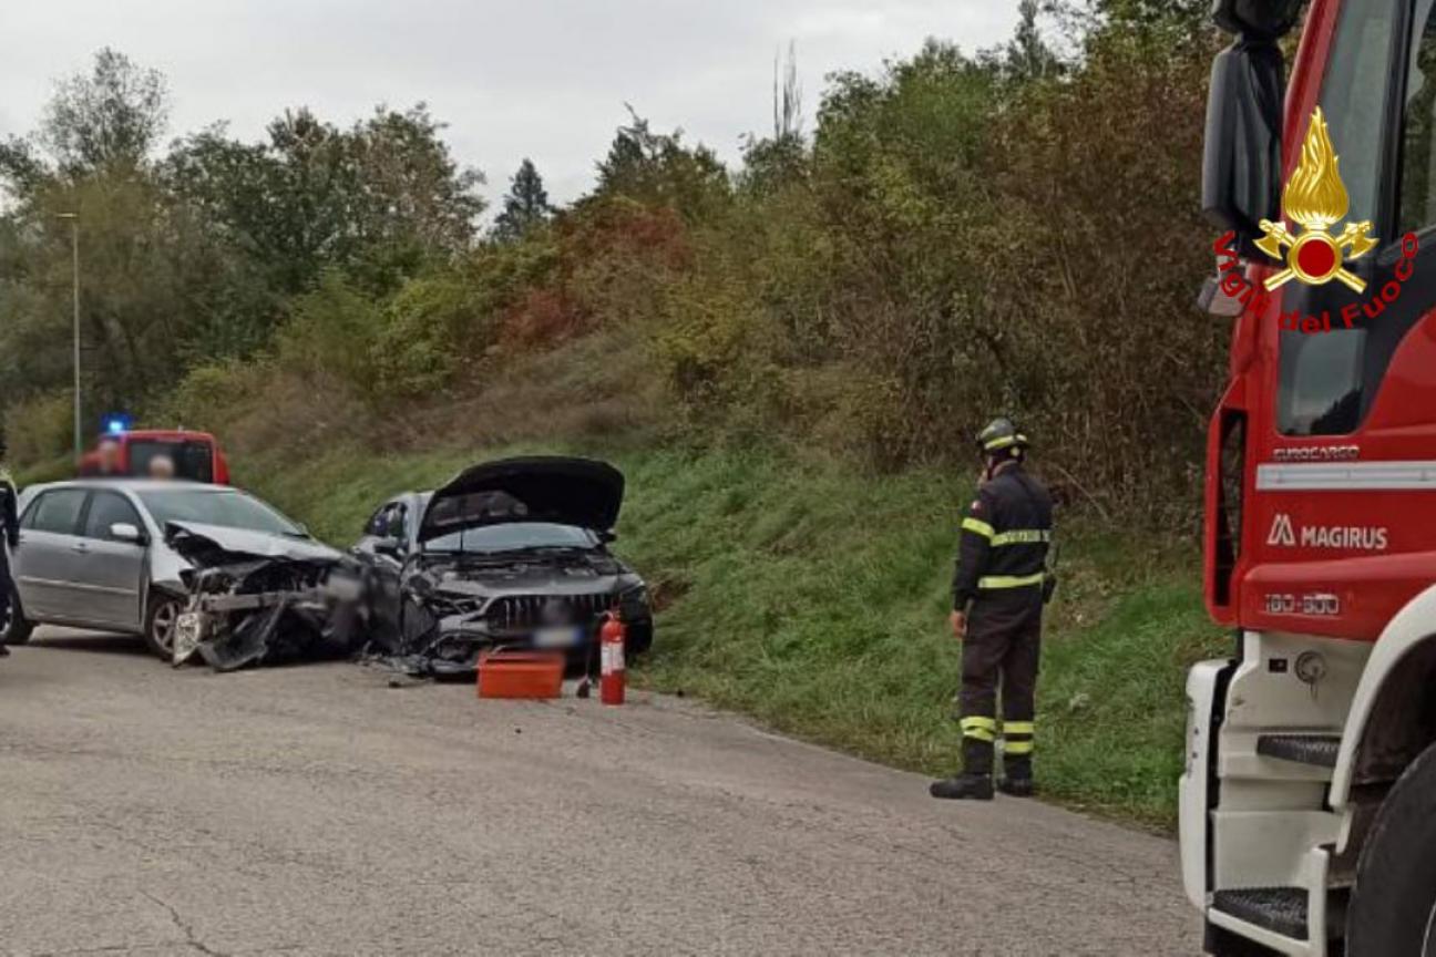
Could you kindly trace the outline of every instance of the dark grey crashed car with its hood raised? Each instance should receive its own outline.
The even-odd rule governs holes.
[[[599,624],[617,611],[640,654],[653,641],[648,588],[609,551],[622,504],[622,472],[557,456],[487,462],[393,496],[353,548],[370,650],[415,674],[470,674],[488,649],[561,651],[592,673]]]

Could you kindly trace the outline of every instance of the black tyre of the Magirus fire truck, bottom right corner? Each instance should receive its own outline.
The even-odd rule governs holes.
[[[1361,848],[1347,957],[1436,957],[1436,745],[1410,763]]]

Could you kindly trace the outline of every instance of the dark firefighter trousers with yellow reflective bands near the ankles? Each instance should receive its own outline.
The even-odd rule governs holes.
[[[1032,737],[1037,730],[1037,670],[1043,647],[1043,603],[984,600],[972,603],[962,643],[962,766],[991,775],[992,752],[1002,737],[1008,778],[1032,776]],[[997,720],[998,687],[1002,720]]]

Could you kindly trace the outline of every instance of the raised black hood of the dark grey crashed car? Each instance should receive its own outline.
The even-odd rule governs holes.
[[[623,505],[623,473],[607,462],[531,456],[464,469],[434,491],[419,541],[480,525],[559,522],[602,532]]]

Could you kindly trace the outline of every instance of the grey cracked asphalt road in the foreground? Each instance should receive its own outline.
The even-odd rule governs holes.
[[[4,954],[1195,954],[1176,848],[671,699],[0,661]]]

